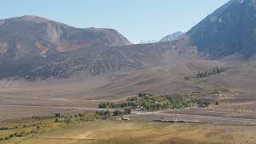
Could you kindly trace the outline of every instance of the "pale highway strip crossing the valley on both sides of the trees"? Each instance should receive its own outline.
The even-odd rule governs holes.
[[[7,104],[8,105],[8,104]],[[9,104],[15,105],[15,104]],[[16,104],[17,105],[17,104]],[[46,105],[25,105],[18,104],[21,106],[39,106],[39,107],[55,107],[61,109],[73,109],[73,110],[106,110],[101,108],[92,107],[73,107],[73,106],[46,106]],[[109,109],[114,111],[116,109]],[[223,111],[214,110],[204,110],[204,109],[184,109],[184,110],[160,110],[154,112],[142,112],[142,111],[132,111],[132,114],[126,115],[125,117],[136,117],[136,116],[166,116],[167,118],[178,118],[186,120],[186,122],[238,122],[238,123],[248,123],[256,124],[256,114],[243,114],[243,113],[231,113]],[[238,118],[235,118],[238,117]]]

